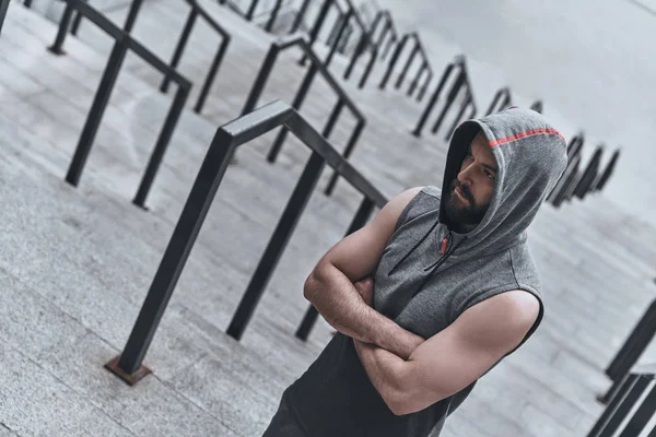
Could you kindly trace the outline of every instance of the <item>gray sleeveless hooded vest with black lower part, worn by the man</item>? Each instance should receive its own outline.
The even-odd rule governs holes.
[[[532,110],[511,108],[466,121],[450,141],[443,187],[457,176],[480,130],[499,166],[483,220],[473,231],[458,234],[441,208],[441,190],[420,191],[401,213],[376,268],[374,308],[427,339],[471,306],[525,290],[538,297],[541,310],[524,343],[543,316],[526,229],[565,169],[566,144]],[[366,376],[352,339],[338,333],[283,400],[312,437],[435,437],[475,383],[420,412],[396,416]]]

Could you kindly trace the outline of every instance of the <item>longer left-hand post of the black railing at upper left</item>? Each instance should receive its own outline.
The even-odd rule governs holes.
[[[73,187],[77,187],[80,182],[80,176],[82,175],[82,170],[86,164],[86,158],[91,152],[93,141],[98,131],[98,127],[101,126],[103,114],[105,113],[105,108],[109,102],[109,96],[114,91],[114,85],[116,84],[116,79],[118,78],[118,73],[126,58],[127,51],[127,42],[116,40],[114,48],[112,49],[112,54],[109,55],[107,67],[105,67],[105,72],[101,79],[101,84],[98,85],[98,90],[96,91],[93,99],[93,104],[91,105],[91,110],[89,111],[89,116],[84,122],[84,128],[80,134],[80,141],[78,142],[78,146],[69,166],[68,174],[66,175],[66,181]]]

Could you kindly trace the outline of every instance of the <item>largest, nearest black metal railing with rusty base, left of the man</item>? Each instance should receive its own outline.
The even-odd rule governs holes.
[[[236,149],[278,127],[284,127],[294,133],[312,151],[312,156],[296,182],[227,328],[231,336],[236,340],[242,338],[325,165],[338,172],[364,197],[351,229],[363,226],[374,208],[382,208],[387,202],[385,197],[319,132],[292,106],[283,102],[273,102],[219,128],[191,187],[130,338],[121,354],[105,365],[105,368],[126,382],[133,385],[150,373],[142,365],[143,358]]]

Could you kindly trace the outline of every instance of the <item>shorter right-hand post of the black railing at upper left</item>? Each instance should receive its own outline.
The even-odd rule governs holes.
[[[173,137],[173,131],[175,130],[175,127],[180,118],[183,109],[185,108],[185,103],[187,102],[188,95],[189,86],[178,85],[178,90],[175,93],[175,98],[173,99],[173,105],[171,105],[166,120],[164,120],[164,126],[162,127],[157,142],[155,143],[155,149],[150,156],[148,166],[145,167],[145,173],[141,178],[139,189],[137,190],[137,194],[132,200],[132,203],[134,203],[137,206],[145,209],[145,199],[148,198],[148,193],[153,185],[153,180],[157,175],[157,170],[160,169],[160,165],[164,158],[164,153],[166,153],[166,149],[168,147],[168,143]]]

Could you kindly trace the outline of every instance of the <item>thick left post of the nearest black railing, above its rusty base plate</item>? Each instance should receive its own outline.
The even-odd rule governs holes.
[[[130,338],[120,354],[118,366],[128,375],[141,367],[234,151],[232,137],[219,129],[191,187]]]

